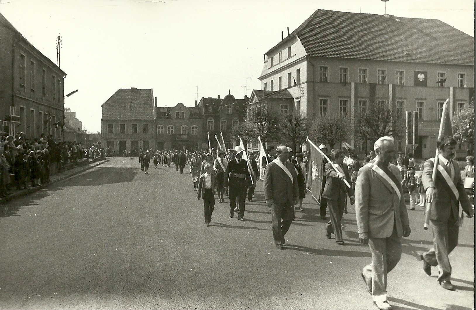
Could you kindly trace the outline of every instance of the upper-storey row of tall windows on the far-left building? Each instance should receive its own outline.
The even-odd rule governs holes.
[[[29,77],[30,77],[30,93],[35,95],[36,92],[36,63],[34,60],[30,60],[30,66],[28,68]],[[27,61],[26,56],[20,54],[20,90],[26,91],[26,74],[27,74]],[[43,97],[47,96],[46,93],[46,84],[47,84],[47,73],[46,69],[43,68],[41,71],[41,95]],[[61,88],[61,80],[56,78],[54,75],[51,75],[48,80],[49,86],[51,86],[51,98],[55,103],[60,102],[60,96],[57,94],[57,90]]]

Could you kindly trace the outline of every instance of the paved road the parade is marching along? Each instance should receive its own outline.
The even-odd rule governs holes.
[[[370,253],[357,242],[353,207],[339,246],[306,198],[278,250],[262,200],[259,184],[246,222],[217,202],[206,227],[190,174],[152,166],[144,175],[137,158],[111,158],[7,204],[0,309],[377,309],[360,278]],[[451,254],[454,292],[424,274],[417,255],[431,233],[421,210],[410,221],[388,300],[396,309],[472,309],[474,221],[465,219]]]

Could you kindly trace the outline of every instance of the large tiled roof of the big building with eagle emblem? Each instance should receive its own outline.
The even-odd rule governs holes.
[[[297,36],[308,56],[474,65],[474,38],[439,19],[316,10]]]

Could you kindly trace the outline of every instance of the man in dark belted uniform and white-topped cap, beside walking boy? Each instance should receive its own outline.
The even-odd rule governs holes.
[[[246,160],[241,158],[244,151],[245,150],[239,145],[235,146],[236,154],[228,163],[224,180],[224,186],[229,187],[230,217],[233,217],[233,211],[236,207],[238,198],[238,220],[242,222],[245,221],[243,216],[245,215],[246,191],[248,189],[248,184],[251,183],[248,172],[248,163]]]

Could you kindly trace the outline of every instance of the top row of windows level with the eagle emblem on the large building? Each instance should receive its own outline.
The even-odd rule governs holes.
[[[422,80],[426,77],[422,77]],[[387,69],[377,69],[377,84],[387,84]],[[339,83],[349,82],[349,68],[339,67]],[[438,87],[446,86],[446,72],[437,73]],[[329,67],[319,66],[319,82],[329,82]],[[368,69],[358,69],[358,82],[362,84],[368,83]],[[395,84],[405,84],[405,70],[395,71]],[[456,85],[458,87],[466,87],[466,73],[458,73]]]

